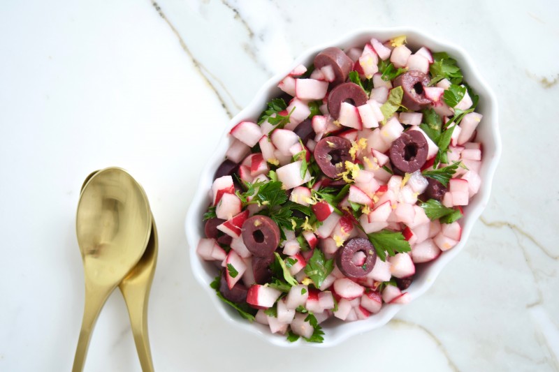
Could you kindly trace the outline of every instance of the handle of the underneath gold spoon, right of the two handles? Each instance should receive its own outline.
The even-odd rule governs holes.
[[[147,303],[150,297],[150,284],[132,282],[119,285],[128,308],[134,343],[136,343],[140,365],[144,372],[153,372],[154,370],[150,338],[147,334]]]

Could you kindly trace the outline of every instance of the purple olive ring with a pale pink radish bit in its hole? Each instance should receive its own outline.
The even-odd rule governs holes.
[[[365,253],[365,263],[356,265],[354,255],[357,252]],[[363,278],[369,274],[377,262],[377,251],[375,246],[365,238],[353,238],[345,242],[345,244],[337,250],[336,264],[342,274],[348,278]]]

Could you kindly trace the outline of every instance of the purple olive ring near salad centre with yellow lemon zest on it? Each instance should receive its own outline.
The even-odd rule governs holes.
[[[314,159],[327,177],[337,178],[340,177],[338,174],[344,172],[345,162],[352,160],[349,149],[349,140],[335,136],[326,137],[314,147]]]

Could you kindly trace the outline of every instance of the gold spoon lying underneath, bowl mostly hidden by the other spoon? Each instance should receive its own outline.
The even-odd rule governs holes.
[[[95,171],[89,174],[82,185],[82,190],[91,179]],[[155,266],[157,264],[158,237],[155,221],[152,216],[152,231],[147,241],[144,254],[128,275],[119,283],[118,287],[130,316],[132,333],[142,371],[153,371],[152,353],[150,350],[150,338],[147,334],[147,304],[150,298]]]

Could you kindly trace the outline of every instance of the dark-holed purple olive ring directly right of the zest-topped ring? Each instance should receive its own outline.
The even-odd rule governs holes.
[[[390,161],[400,172],[413,173],[425,164],[427,150],[427,140],[420,131],[407,131],[392,142]]]

